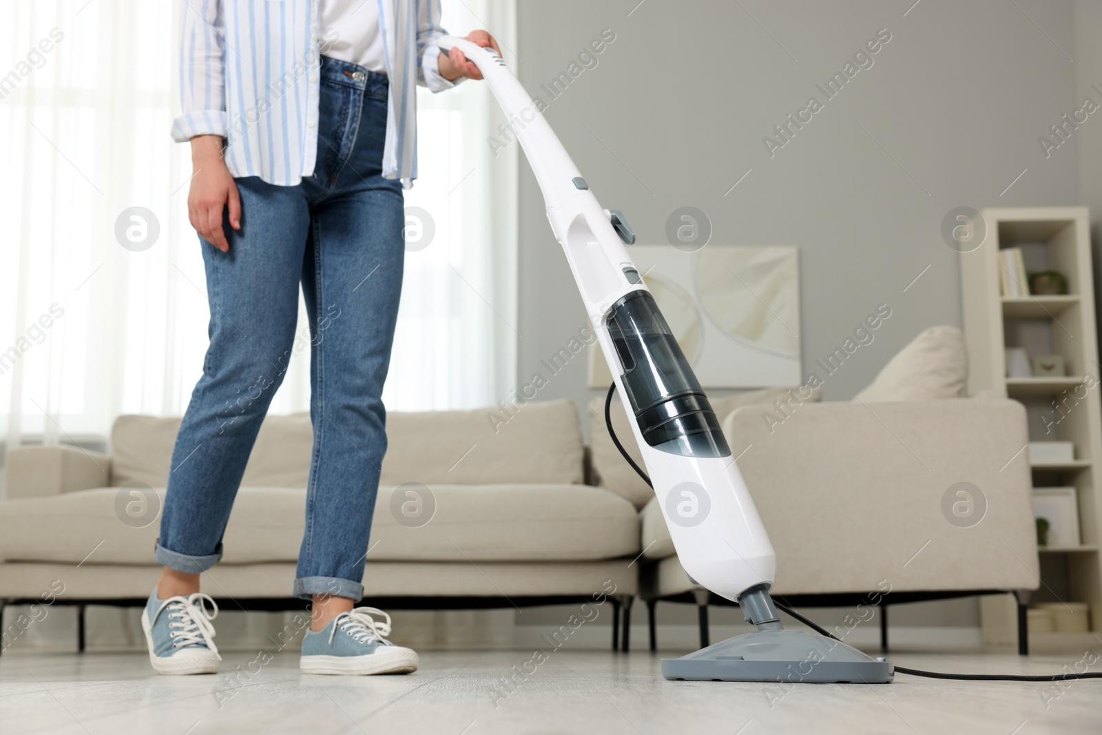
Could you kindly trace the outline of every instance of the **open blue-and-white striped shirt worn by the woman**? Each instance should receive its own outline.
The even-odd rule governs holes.
[[[417,88],[454,86],[440,75],[440,0],[377,2],[390,80],[382,171],[417,179]],[[180,89],[172,137],[226,139],[235,177],[294,186],[317,158],[318,67],[335,31],[318,28],[320,0],[184,0]]]

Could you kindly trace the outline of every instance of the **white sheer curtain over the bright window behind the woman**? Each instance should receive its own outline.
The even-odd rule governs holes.
[[[119,413],[180,414],[198,379],[208,310],[186,216],[177,106],[181,0],[0,0],[0,420],[6,446],[96,446]],[[444,0],[454,33],[489,26],[515,62],[514,3]],[[407,206],[435,235],[407,255],[391,410],[491,404],[515,375],[516,147],[485,85],[419,89],[419,173]],[[159,236],[123,248],[116,220]],[[411,223],[420,227],[423,223]],[[304,315],[300,334],[306,334]],[[272,412],[309,409],[309,345]]]

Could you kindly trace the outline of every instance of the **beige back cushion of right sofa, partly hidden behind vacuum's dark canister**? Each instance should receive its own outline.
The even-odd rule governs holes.
[[[809,397],[803,401],[821,401],[822,391],[804,390]],[[715,415],[722,422],[723,419],[741,406],[752,406],[755,403],[773,403],[774,401],[799,401],[793,398],[800,396],[797,388],[766,388],[763,390],[750,390],[733,396],[721,398],[709,397]],[[619,396],[613,398],[609,411],[613,419],[613,428],[624,448],[635,458],[639,466],[642,466],[642,456],[639,454],[639,445],[636,444],[635,434],[627,422],[627,413]],[[601,486],[622,495],[630,500],[636,508],[642,508],[652,497],[655,491],[642,482],[631,466],[620,456],[616,445],[613,444],[608,435],[608,428],[605,425],[605,396],[598,396],[590,401],[590,451],[592,453],[593,469],[601,478]]]

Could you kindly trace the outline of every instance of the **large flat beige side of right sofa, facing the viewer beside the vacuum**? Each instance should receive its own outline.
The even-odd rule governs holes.
[[[1016,401],[754,406],[723,430],[777,551],[778,592],[1039,585]]]

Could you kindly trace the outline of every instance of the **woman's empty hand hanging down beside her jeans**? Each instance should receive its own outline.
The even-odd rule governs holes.
[[[241,229],[241,198],[222,156],[220,136],[192,138],[192,185],[187,192],[187,219],[207,242],[229,252],[222,229],[222,214],[229,206],[229,225]]]

